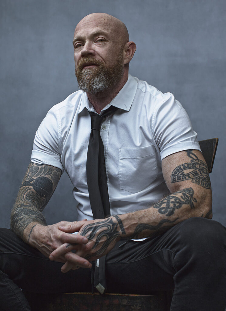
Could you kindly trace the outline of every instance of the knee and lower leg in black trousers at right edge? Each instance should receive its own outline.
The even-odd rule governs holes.
[[[193,218],[179,227],[175,240],[174,296],[171,310],[226,307],[226,229],[214,220]],[[186,306],[186,307],[184,307]]]

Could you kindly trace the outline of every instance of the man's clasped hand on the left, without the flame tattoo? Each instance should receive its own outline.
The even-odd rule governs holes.
[[[84,224],[87,219],[80,221],[80,224]],[[59,226],[70,225],[70,222],[61,221],[54,225],[43,226],[40,224],[36,224],[34,229],[32,230],[32,234],[29,240],[29,244],[35,248],[37,248],[44,256],[49,257],[49,255],[57,248],[59,248],[63,244],[73,244],[80,245],[81,248],[88,242],[88,239],[76,234],[66,233],[62,230],[59,230]],[[76,221],[73,222],[76,224]],[[68,250],[70,251],[70,250]],[[76,266],[73,265],[72,269],[77,269],[78,267],[86,267],[90,268],[91,264],[87,259],[81,258],[75,254],[77,259]],[[64,254],[55,259],[58,262],[66,262]]]

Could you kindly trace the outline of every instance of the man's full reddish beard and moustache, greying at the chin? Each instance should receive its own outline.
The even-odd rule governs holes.
[[[97,65],[94,68],[83,69],[85,63]],[[122,52],[119,53],[114,65],[105,66],[94,57],[82,58],[75,68],[79,88],[90,94],[98,94],[112,88],[121,80],[124,73]]]

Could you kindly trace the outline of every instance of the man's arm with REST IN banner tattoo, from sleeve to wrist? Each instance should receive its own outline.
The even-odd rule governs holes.
[[[200,151],[186,150],[166,157],[162,172],[171,194],[147,210],[131,213],[131,223],[126,214],[120,215],[132,238],[161,234],[191,217],[212,218],[210,178]]]

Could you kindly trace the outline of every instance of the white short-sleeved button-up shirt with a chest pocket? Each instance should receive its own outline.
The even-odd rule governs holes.
[[[119,109],[102,122],[111,215],[150,207],[169,193],[161,160],[186,149],[200,150],[187,113],[171,93],[161,93],[129,75],[110,105]],[[74,185],[78,220],[93,219],[86,157],[91,131],[86,93],[77,91],[53,106],[40,124],[31,161],[65,170]],[[102,112],[101,112],[102,113]]]

